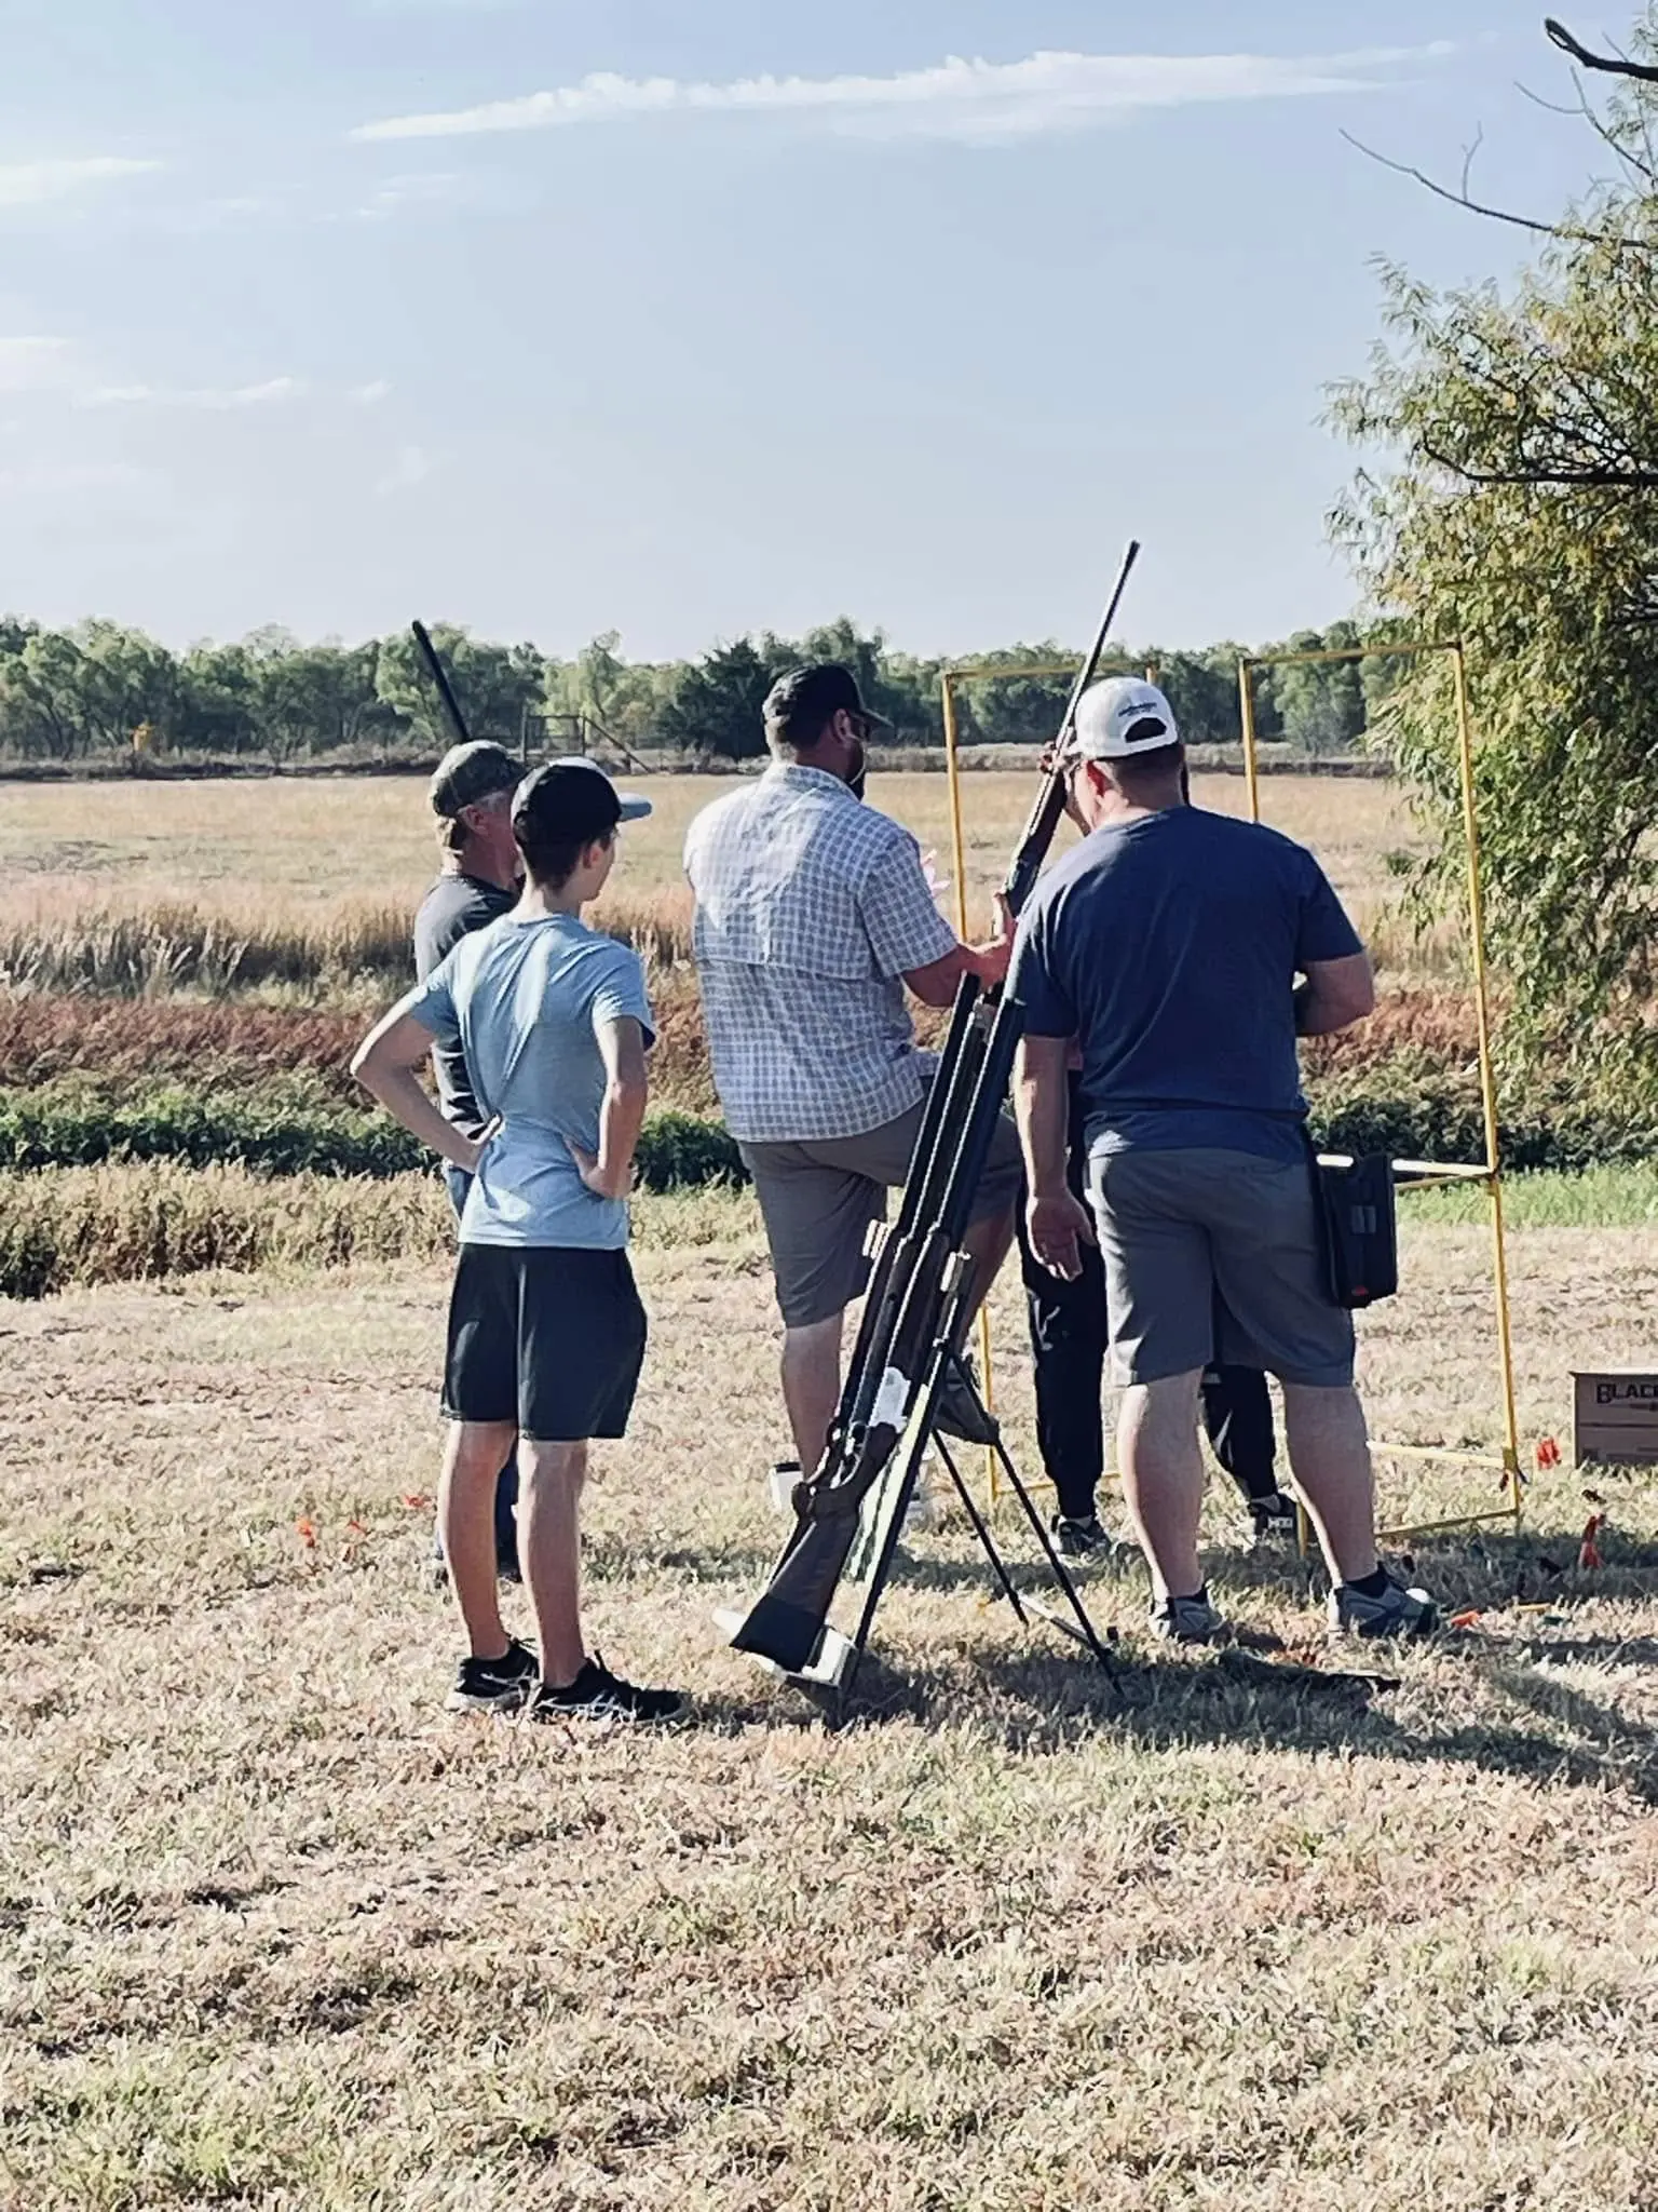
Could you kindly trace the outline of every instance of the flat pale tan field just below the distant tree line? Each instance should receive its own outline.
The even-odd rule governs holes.
[[[637,781],[657,812],[623,832],[608,902],[628,914],[661,902],[663,925],[683,925],[685,830],[732,783],[657,774]],[[986,770],[966,774],[962,787],[968,918],[982,931],[1037,779]],[[1262,794],[1265,816],[1318,847],[1355,911],[1366,920],[1379,914],[1388,889],[1384,856],[1419,843],[1397,787],[1269,776]],[[955,876],[946,776],[880,774],[869,796],[937,854],[940,876]],[[1245,783],[1198,776],[1196,799],[1242,814]],[[1061,841],[1070,834],[1061,830]],[[332,925],[347,936],[367,925],[378,936],[387,911],[413,911],[433,872],[431,812],[424,781],[413,776],[0,783],[0,931],[188,902],[219,918],[232,938],[274,925],[309,931]]]

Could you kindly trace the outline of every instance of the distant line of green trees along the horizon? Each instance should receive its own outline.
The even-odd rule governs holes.
[[[480,737],[531,752],[608,739],[630,750],[672,750],[694,761],[741,761],[763,750],[760,701],[802,659],[847,661],[898,745],[942,745],[940,659],[895,650],[880,630],[849,619],[776,637],[765,630],[714,646],[696,661],[630,661],[615,633],[575,659],[533,644],[493,644],[433,626],[455,692]],[[1353,624],[1300,630],[1282,648],[1353,646]],[[1236,644],[1203,653],[1143,646],[1114,655],[1150,668],[1167,688],[1194,743],[1238,743]],[[1052,639],[1001,646],[975,666],[1074,661]],[[1386,664],[1265,668],[1256,679],[1262,739],[1309,754],[1353,748],[1377,701]],[[1041,743],[1052,737],[1066,677],[964,684],[964,743]],[[303,644],[263,628],[237,644],[172,653],[141,630],[84,622],[69,630],[0,617],[0,759],[97,761],[148,754],[197,761],[356,761],[429,754],[449,743],[438,699],[407,633],[347,646]]]

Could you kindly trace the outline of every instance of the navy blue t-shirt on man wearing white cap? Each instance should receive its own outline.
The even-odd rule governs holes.
[[[1357,951],[1311,852],[1169,807],[1094,830],[1041,878],[1008,989],[1032,1037],[1079,1040],[1090,1152],[1300,1159],[1295,975]]]

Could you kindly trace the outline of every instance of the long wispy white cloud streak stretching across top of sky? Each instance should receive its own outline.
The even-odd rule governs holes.
[[[1399,64],[1441,60],[1452,51],[1448,42],[1437,42],[1322,58],[1032,53],[1024,62],[951,58],[935,69],[909,69],[889,77],[732,77],[723,84],[599,73],[517,100],[360,124],[351,137],[371,144],[553,131],[652,115],[787,113],[882,135],[997,142],[1094,128],[1136,108],[1353,93]]]

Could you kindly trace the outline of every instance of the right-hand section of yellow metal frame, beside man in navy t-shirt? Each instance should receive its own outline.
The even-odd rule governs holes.
[[[1461,781],[1461,821],[1466,849],[1468,891],[1468,960],[1475,987],[1475,1026],[1479,1037],[1479,1108],[1486,1130],[1486,1159],[1477,1166],[1433,1159],[1395,1161],[1402,1190],[1444,1190],[1455,1183],[1479,1183],[1490,1199],[1490,1252],[1492,1292],[1497,1298],[1497,1369],[1503,1394],[1503,1451],[1492,1458],[1483,1451],[1457,1451],[1444,1444],[1373,1444],[1379,1458],[1433,1460],[1455,1467],[1490,1467],[1501,1473],[1508,1502],[1494,1513],[1459,1513],[1450,1520],[1417,1522],[1413,1526],[1379,1528],[1377,1535],[1391,1542],[1410,1537],[1444,1535],[1452,1528],[1477,1528],[1488,1522],[1512,1522],[1519,1526],[1525,1506],[1519,1462],[1519,1416],[1514,1407],[1514,1327],[1508,1296],[1508,1237],[1503,1230],[1503,1170],[1497,1146],[1497,1066],[1492,1055],[1490,1015],[1490,967],[1486,960],[1486,894],[1479,869],[1479,805],[1475,792],[1475,721],[1468,701],[1468,655],[1461,639],[1444,644],[1399,644],[1399,646],[1346,646],[1324,653],[1260,653],[1238,661],[1238,712],[1242,721],[1245,783],[1249,790],[1249,818],[1260,821],[1260,750],[1256,739],[1256,670],[1295,668],[1313,661],[1375,661],[1375,659],[1421,659],[1444,653],[1452,668],[1457,701],[1457,768]],[[1302,1551],[1309,1548],[1307,1515],[1300,1520]]]

